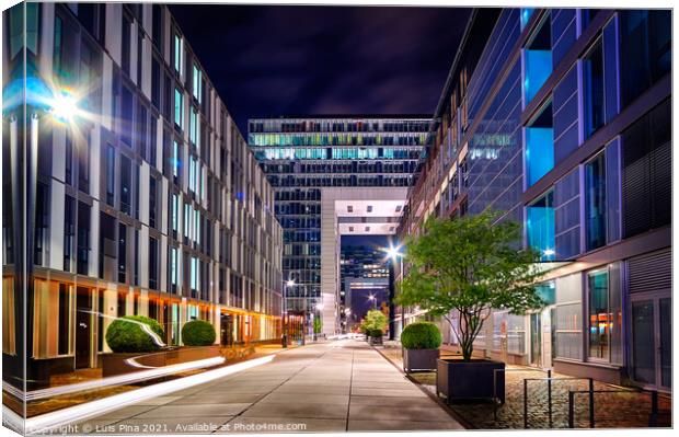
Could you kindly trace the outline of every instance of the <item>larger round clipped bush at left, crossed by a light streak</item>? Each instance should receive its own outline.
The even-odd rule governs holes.
[[[125,315],[106,330],[106,343],[113,352],[152,352],[163,346],[165,333],[156,320],[145,315]]]

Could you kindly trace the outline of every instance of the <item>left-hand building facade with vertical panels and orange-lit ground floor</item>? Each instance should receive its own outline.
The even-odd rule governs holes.
[[[22,138],[22,97],[5,99],[5,364],[23,356],[25,326],[35,384],[96,367],[108,324],[129,314],[157,319],[169,345],[192,319],[222,344],[277,338],[274,192],[169,10],[22,3],[5,28],[22,27],[24,7],[25,71],[24,34],[3,47],[5,97],[25,73],[28,114]]]

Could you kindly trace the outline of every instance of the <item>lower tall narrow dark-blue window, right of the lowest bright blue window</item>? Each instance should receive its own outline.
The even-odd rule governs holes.
[[[585,164],[586,250],[606,244],[606,163],[603,153]]]

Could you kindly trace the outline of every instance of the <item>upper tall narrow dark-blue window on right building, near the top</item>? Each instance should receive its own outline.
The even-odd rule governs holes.
[[[601,39],[583,59],[583,112],[585,138],[603,125],[603,50]]]

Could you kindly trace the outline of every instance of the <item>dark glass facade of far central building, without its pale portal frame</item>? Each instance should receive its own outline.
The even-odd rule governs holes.
[[[248,141],[274,187],[276,217],[284,229],[283,276],[295,281],[286,289],[288,311],[313,313],[323,303],[324,189],[411,186],[429,123],[428,117],[385,116],[250,120]],[[338,264],[338,257],[335,261]]]

